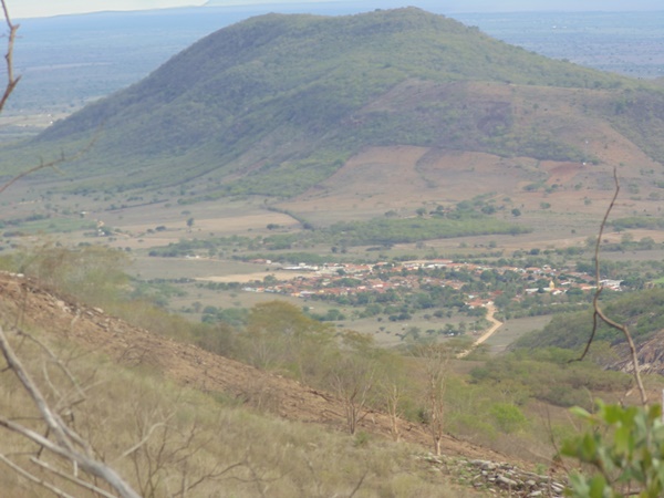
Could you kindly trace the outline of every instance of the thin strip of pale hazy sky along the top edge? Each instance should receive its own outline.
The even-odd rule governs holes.
[[[207,0],[7,0],[12,18],[48,17],[69,13],[108,10],[148,10],[168,7],[203,6]],[[314,4],[351,3],[349,0],[210,0],[215,6],[249,4]],[[355,6],[362,1],[353,2]],[[367,1],[371,8],[384,3],[385,8],[417,6],[426,8],[432,0]],[[450,11],[509,11],[509,10],[664,10],[662,0],[439,0],[436,7]]]

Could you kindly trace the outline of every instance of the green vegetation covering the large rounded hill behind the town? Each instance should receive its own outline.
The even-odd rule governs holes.
[[[191,181],[208,194],[284,197],[372,145],[592,160],[557,132],[558,117],[519,111],[537,110],[549,89],[582,89],[584,114],[610,120],[662,157],[653,137],[664,95],[640,85],[416,8],[269,14],[210,34],[7,153],[17,167],[95,137],[84,159],[66,166],[79,183],[98,187],[91,177],[102,175],[106,188]],[[634,128],[644,112],[647,123]]]

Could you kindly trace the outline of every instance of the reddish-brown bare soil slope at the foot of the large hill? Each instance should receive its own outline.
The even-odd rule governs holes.
[[[371,218],[388,210],[413,210],[423,205],[433,209],[476,196],[486,196],[485,200],[504,206],[507,211],[519,207],[532,216],[546,214],[541,208],[546,203],[549,212],[563,217],[600,217],[614,188],[612,167],[616,166],[621,181],[632,185],[632,189],[639,186],[641,191],[639,199],[624,194],[615,206],[615,215],[653,211],[656,203],[650,201],[649,194],[654,188],[652,180],[658,177],[644,181],[641,170],[619,160],[621,154],[613,154],[614,144],[633,148],[624,138],[610,142],[606,149],[589,141],[589,153],[605,156],[605,163],[600,165],[414,146],[370,147],[321,185],[280,206],[323,225]],[[655,163],[642,156],[636,152],[632,155],[639,158],[641,169],[644,165],[657,169]]]

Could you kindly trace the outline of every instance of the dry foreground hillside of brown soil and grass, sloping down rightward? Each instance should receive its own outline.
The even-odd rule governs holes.
[[[196,487],[196,494],[222,489],[238,496],[256,496],[256,487],[266,481],[270,484],[270,496],[312,496],[312,486],[320,496],[329,496],[347,486],[356,486],[369,496],[390,489],[394,490],[392,496],[412,496],[421,490],[426,496],[435,492],[442,497],[479,497],[496,491],[525,497],[533,489],[551,486],[551,476],[525,471],[513,464],[506,464],[505,455],[447,435],[443,439],[444,456],[421,456],[426,453],[430,436],[416,423],[400,421],[403,443],[391,446],[386,440],[391,422],[378,411],[371,411],[360,423],[364,436],[359,437],[371,435],[375,439],[371,444],[353,443],[349,436],[341,435],[344,405],[331,393],[165,339],[97,308],[53,293],[37,280],[1,272],[3,326],[9,329],[8,321],[17,315],[21,317],[21,329],[30,331],[30,339],[35,340],[29,342],[37,342],[42,352],[50,354],[48,363],[74,369],[76,382],[93,381],[93,388],[84,387],[90,391],[85,400],[81,398],[72,409],[76,428],[83,428],[96,450],[117,453],[118,447],[135,444],[126,438],[135,437],[133,430],[141,430],[142,423],[154,424],[137,445],[143,448],[141,453],[145,452],[147,460],[141,460],[141,455],[132,456],[136,452],[134,448],[113,459],[112,464],[142,490],[143,496],[146,489],[160,496],[159,490],[164,487],[179,484],[180,471],[183,476],[191,476],[191,489]],[[30,357],[27,345],[17,347],[27,364],[33,366],[35,359]],[[52,351],[60,352],[61,363]],[[91,371],[81,370],[81,363],[91,364]],[[39,361],[37,365],[39,371]],[[58,396],[60,393],[53,382],[60,377],[45,373],[46,365],[41,367],[44,369],[46,388],[53,388]],[[11,372],[6,371],[6,374],[11,375]],[[3,415],[13,414],[22,406],[15,404],[18,394],[10,385],[8,381],[0,388]],[[60,401],[64,402],[63,398]],[[73,421],[73,413],[68,412],[68,416]],[[160,416],[166,417],[167,423],[160,422]],[[216,425],[219,419],[224,424],[221,429]],[[159,434],[159,426],[168,426],[173,433]],[[143,426],[143,430],[147,428]],[[110,444],[102,434],[104,430],[113,432]],[[181,443],[178,443],[178,436],[183,437]],[[21,447],[12,444],[14,452]],[[148,447],[152,445],[155,445],[154,454]],[[274,454],[269,449],[270,445],[274,445]],[[325,464],[326,454],[345,463],[345,467]],[[382,455],[391,458],[388,464],[383,461]],[[20,460],[15,455],[11,457]],[[201,469],[210,465],[210,458],[217,458],[212,464],[215,473],[207,470],[205,474]],[[225,461],[235,464],[228,464],[229,467],[218,474],[220,466],[227,465]],[[347,461],[356,468],[349,469]],[[523,465],[522,461],[519,464]],[[230,473],[235,467],[245,466],[251,471],[260,469],[262,474]],[[487,473],[481,467],[485,468],[481,473],[480,466],[488,466],[494,471]],[[364,477],[362,469],[365,469]],[[230,473],[228,477],[226,473]],[[346,477],[340,477],[339,473]],[[456,473],[471,473],[478,477],[466,486],[455,486],[455,480],[463,480]],[[409,477],[398,478],[404,475]],[[495,476],[504,475],[510,480],[496,481]],[[269,480],[267,476],[270,476]],[[195,480],[198,478],[199,481]],[[537,483],[525,484],[533,478]],[[483,486],[486,489],[475,489],[477,479],[488,479]],[[510,491],[510,487],[516,486],[513,479],[519,479],[520,484],[518,489]],[[11,471],[4,473],[0,483],[3,489],[15,492],[12,496],[23,496],[19,492],[31,489],[25,483],[15,481]],[[561,496],[563,486],[552,485],[556,488],[551,496]],[[97,483],[97,486],[101,485]]]

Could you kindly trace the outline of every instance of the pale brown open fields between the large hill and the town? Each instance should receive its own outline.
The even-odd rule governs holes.
[[[611,181],[606,184],[606,189],[573,188],[579,181],[579,175],[585,175],[584,170],[588,168],[592,168],[595,177],[593,181],[602,178],[602,181],[610,180],[610,170],[606,166],[571,167],[564,164],[556,166],[542,163],[538,168],[532,160],[501,159],[477,153],[453,153],[429,157],[427,159],[429,176],[425,177],[421,160],[425,153],[426,149],[418,147],[365,151],[328,180],[325,191],[308,193],[293,200],[277,203],[277,206],[297,214],[301,219],[309,220],[314,227],[324,227],[349,218],[383,217],[387,211],[393,211],[400,217],[414,216],[415,209],[419,207],[433,210],[438,205],[454,206],[455,203],[470,199],[473,195],[484,195],[488,196],[487,203],[498,209],[492,216],[533,228],[532,232],[518,236],[473,236],[426,240],[419,243],[397,243],[392,248],[383,248],[377,253],[366,252],[364,247],[349,247],[347,252],[343,255],[346,260],[427,253],[446,258],[458,255],[480,256],[489,250],[510,256],[517,250],[584,247],[588,238],[596,235],[612,195]],[[509,164],[513,165],[511,169]],[[511,173],[504,174],[504,167]],[[596,176],[598,168],[603,170],[600,176]],[[519,180],[521,178],[519,172],[525,172],[522,180]],[[430,179],[430,175],[434,174],[439,177],[435,181],[440,184],[427,186],[426,179],[434,181]],[[530,177],[531,174],[536,176]],[[64,170],[63,175],[70,174]],[[364,179],[360,181],[361,178]],[[490,181],[486,181],[487,178]],[[556,191],[544,191],[541,188],[528,191],[519,187],[528,178],[541,178],[544,185],[561,181],[563,188]],[[353,191],[344,189],[346,181],[352,181],[359,188]],[[61,184],[62,186],[64,184]],[[470,187],[470,190],[466,190]],[[642,191],[641,198],[649,199],[647,193],[657,190],[651,183],[650,190]],[[43,190],[40,181],[37,180],[17,185],[6,193],[2,206],[4,219],[25,218],[35,214],[53,216],[33,222],[32,226],[25,224],[25,232],[39,235],[40,240],[45,236],[53,242],[102,243],[127,250],[134,260],[131,272],[145,279],[208,277],[229,279],[229,276],[237,274],[248,276],[243,277],[243,280],[262,279],[266,271],[271,271],[271,268],[268,270],[266,266],[235,261],[232,257],[240,253],[230,249],[225,249],[221,255],[215,256],[214,260],[206,258],[174,260],[152,258],[147,255],[152,248],[187,239],[206,240],[234,236],[256,238],[274,234],[295,234],[302,230],[301,224],[291,216],[267,210],[264,198],[222,198],[183,205],[178,203],[180,193],[176,189],[126,196],[102,193],[76,195],[56,193],[58,190],[43,195],[39,191]],[[633,200],[631,197],[626,188],[623,188],[612,218],[634,214],[657,216],[656,200]],[[268,205],[274,201],[270,200]],[[550,204],[550,207],[542,208],[542,203]],[[521,216],[512,216],[510,210],[513,208],[519,208]],[[84,212],[84,216],[81,212]],[[190,218],[194,222],[188,227],[187,220]],[[96,236],[95,231],[90,229],[90,224],[95,222],[103,222],[111,230],[111,236]],[[270,224],[280,228],[269,230],[267,227]],[[75,231],[76,225],[87,228]],[[19,225],[18,229],[20,228]],[[62,234],[65,229],[68,234]],[[9,230],[6,228],[4,231]],[[652,237],[656,243],[664,242],[664,231],[634,229],[627,232],[634,240]],[[608,242],[619,242],[623,236],[624,232],[608,230],[603,239]],[[9,246],[30,243],[31,240],[37,239],[6,237],[3,242]],[[309,247],[304,250],[320,255],[329,253],[331,258],[333,257],[329,247]],[[632,255],[605,253],[605,258],[610,260],[631,258],[657,260],[661,256],[658,249]],[[257,274],[249,277],[251,273]],[[236,277],[230,279],[237,280]]]

